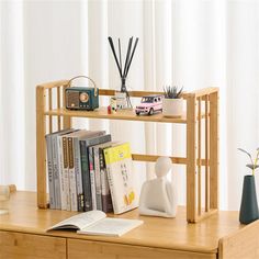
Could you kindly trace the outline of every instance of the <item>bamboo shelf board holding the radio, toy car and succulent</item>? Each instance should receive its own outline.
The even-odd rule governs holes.
[[[134,110],[119,110],[115,114],[108,114],[106,108],[99,108],[94,111],[72,111],[67,109],[55,109],[46,111],[45,115],[70,116],[70,117],[91,117],[124,121],[161,122],[161,123],[187,123],[185,116],[165,117],[161,113],[154,115],[136,115]]]

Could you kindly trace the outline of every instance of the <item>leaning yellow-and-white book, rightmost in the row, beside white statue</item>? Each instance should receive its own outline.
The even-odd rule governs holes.
[[[105,148],[104,158],[114,214],[137,207],[137,184],[132,168],[130,143]]]

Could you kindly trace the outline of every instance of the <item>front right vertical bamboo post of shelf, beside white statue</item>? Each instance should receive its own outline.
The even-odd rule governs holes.
[[[196,222],[196,100],[187,99],[187,221]]]

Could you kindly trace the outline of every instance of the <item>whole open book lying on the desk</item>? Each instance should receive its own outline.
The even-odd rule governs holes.
[[[71,216],[49,227],[49,230],[77,230],[78,234],[122,236],[143,224],[143,221],[106,217],[102,211],[90,211]]]

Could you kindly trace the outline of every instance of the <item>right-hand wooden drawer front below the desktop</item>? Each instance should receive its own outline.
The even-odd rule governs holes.
[[[68,239],[68,259],[216,259],[215,254],[199,254],[140,246]]]

